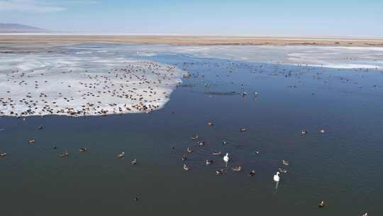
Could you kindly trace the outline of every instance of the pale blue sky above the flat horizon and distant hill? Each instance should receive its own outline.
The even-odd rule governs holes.
[[[51,31],[383,36],[383,0],[0,0],[0,23]]]

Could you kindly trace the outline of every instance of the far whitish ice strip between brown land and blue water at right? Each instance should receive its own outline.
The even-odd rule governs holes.
[[[256,63],[310,65],[324,68],[383,69],[383,48],[313,45],[152,45],[143,53],[182,53],[205,58],[227,58]],[[148,54],[147,54],[148,55]]]

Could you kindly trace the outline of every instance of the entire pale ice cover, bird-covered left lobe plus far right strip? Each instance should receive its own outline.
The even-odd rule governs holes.
[[[354,70],[383,67],[383,48],[67,45],[0,55],[0,114],[78,117],[160,109],[187,75],[173,65],[143,59],[163,54]]]

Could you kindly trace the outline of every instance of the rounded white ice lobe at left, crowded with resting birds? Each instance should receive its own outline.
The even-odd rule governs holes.
[[[0,55],[0,114],[150,112],[164,106],[184,73],[151,61],[77,54]]]

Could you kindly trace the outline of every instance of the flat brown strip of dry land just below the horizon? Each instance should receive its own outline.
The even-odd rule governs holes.
[[[239,36],[80,36],[80,35],[0,35],[0,51],[6,45],[24,49],[30,44],[65,45],[84,42],[168,44],[168,45],[323,45],[383,47],[383,38],[294,38]]]

